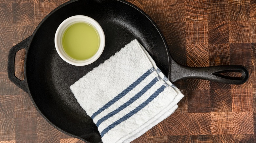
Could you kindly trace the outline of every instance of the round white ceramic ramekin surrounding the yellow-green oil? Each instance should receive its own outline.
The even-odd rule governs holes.
[[[62,37],[63,37],[65,30],[70,25],[78,23],[78,22],[85,22],[87,24],[94,26],[99,34],[100,44],[99,44],[98,51],[96,52],[96,54],[94,56],[92,56],[91,58],[86,59],[86,60],[75,60],[75,59],[71,58],[70,56],[68,56],[66,54],[66,52],[64,51],[63,46],[62,46]],[[105,46],[105,35],[104,35],[104,32],[103,32],[101,26],[94,19],[92,19],[88,16],[84,16],[84,15],[75,15],[75,16],[67,18],[59,25],[59,27],[55,33],[54,43],[55,43],[55,48],[57,50],[57,53],[64,61],[66,61],[72,65],[75,65],[75,66],[85,66],[85,65],[91,64],[94,61],[96,61],[99,58],[99,56],[102,54],[102,52],[104,50],[104,46]]]

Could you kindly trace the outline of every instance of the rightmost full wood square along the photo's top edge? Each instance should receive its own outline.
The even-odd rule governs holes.
[[[229,21],[250,20],[250,0],[228,0],[228,5]]]

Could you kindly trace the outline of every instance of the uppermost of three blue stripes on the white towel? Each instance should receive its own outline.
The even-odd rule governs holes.
[[[150,75],[152,71],[149,69],[147,72],[145,72],[143,75],[141,75],[133,84],[131,84],[129,87],[124,89],[121,93],[119,93],[115,98],[113,98],[111,101],[106,103],[104,106],[98,109],[95,113],[92,115],[92,119],[94,119],[99,113],[107,109],[109,106],[111,106],[113,103],[117,102],[120,98],[124,97],[128,92],[130,92],[134,87],[136,87],[141,81],[143,81],[148,75]]]

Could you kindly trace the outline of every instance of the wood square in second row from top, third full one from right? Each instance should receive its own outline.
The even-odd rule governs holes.
[[[186,40],[187,44],[207,44],[207,22],[186,22]]]

